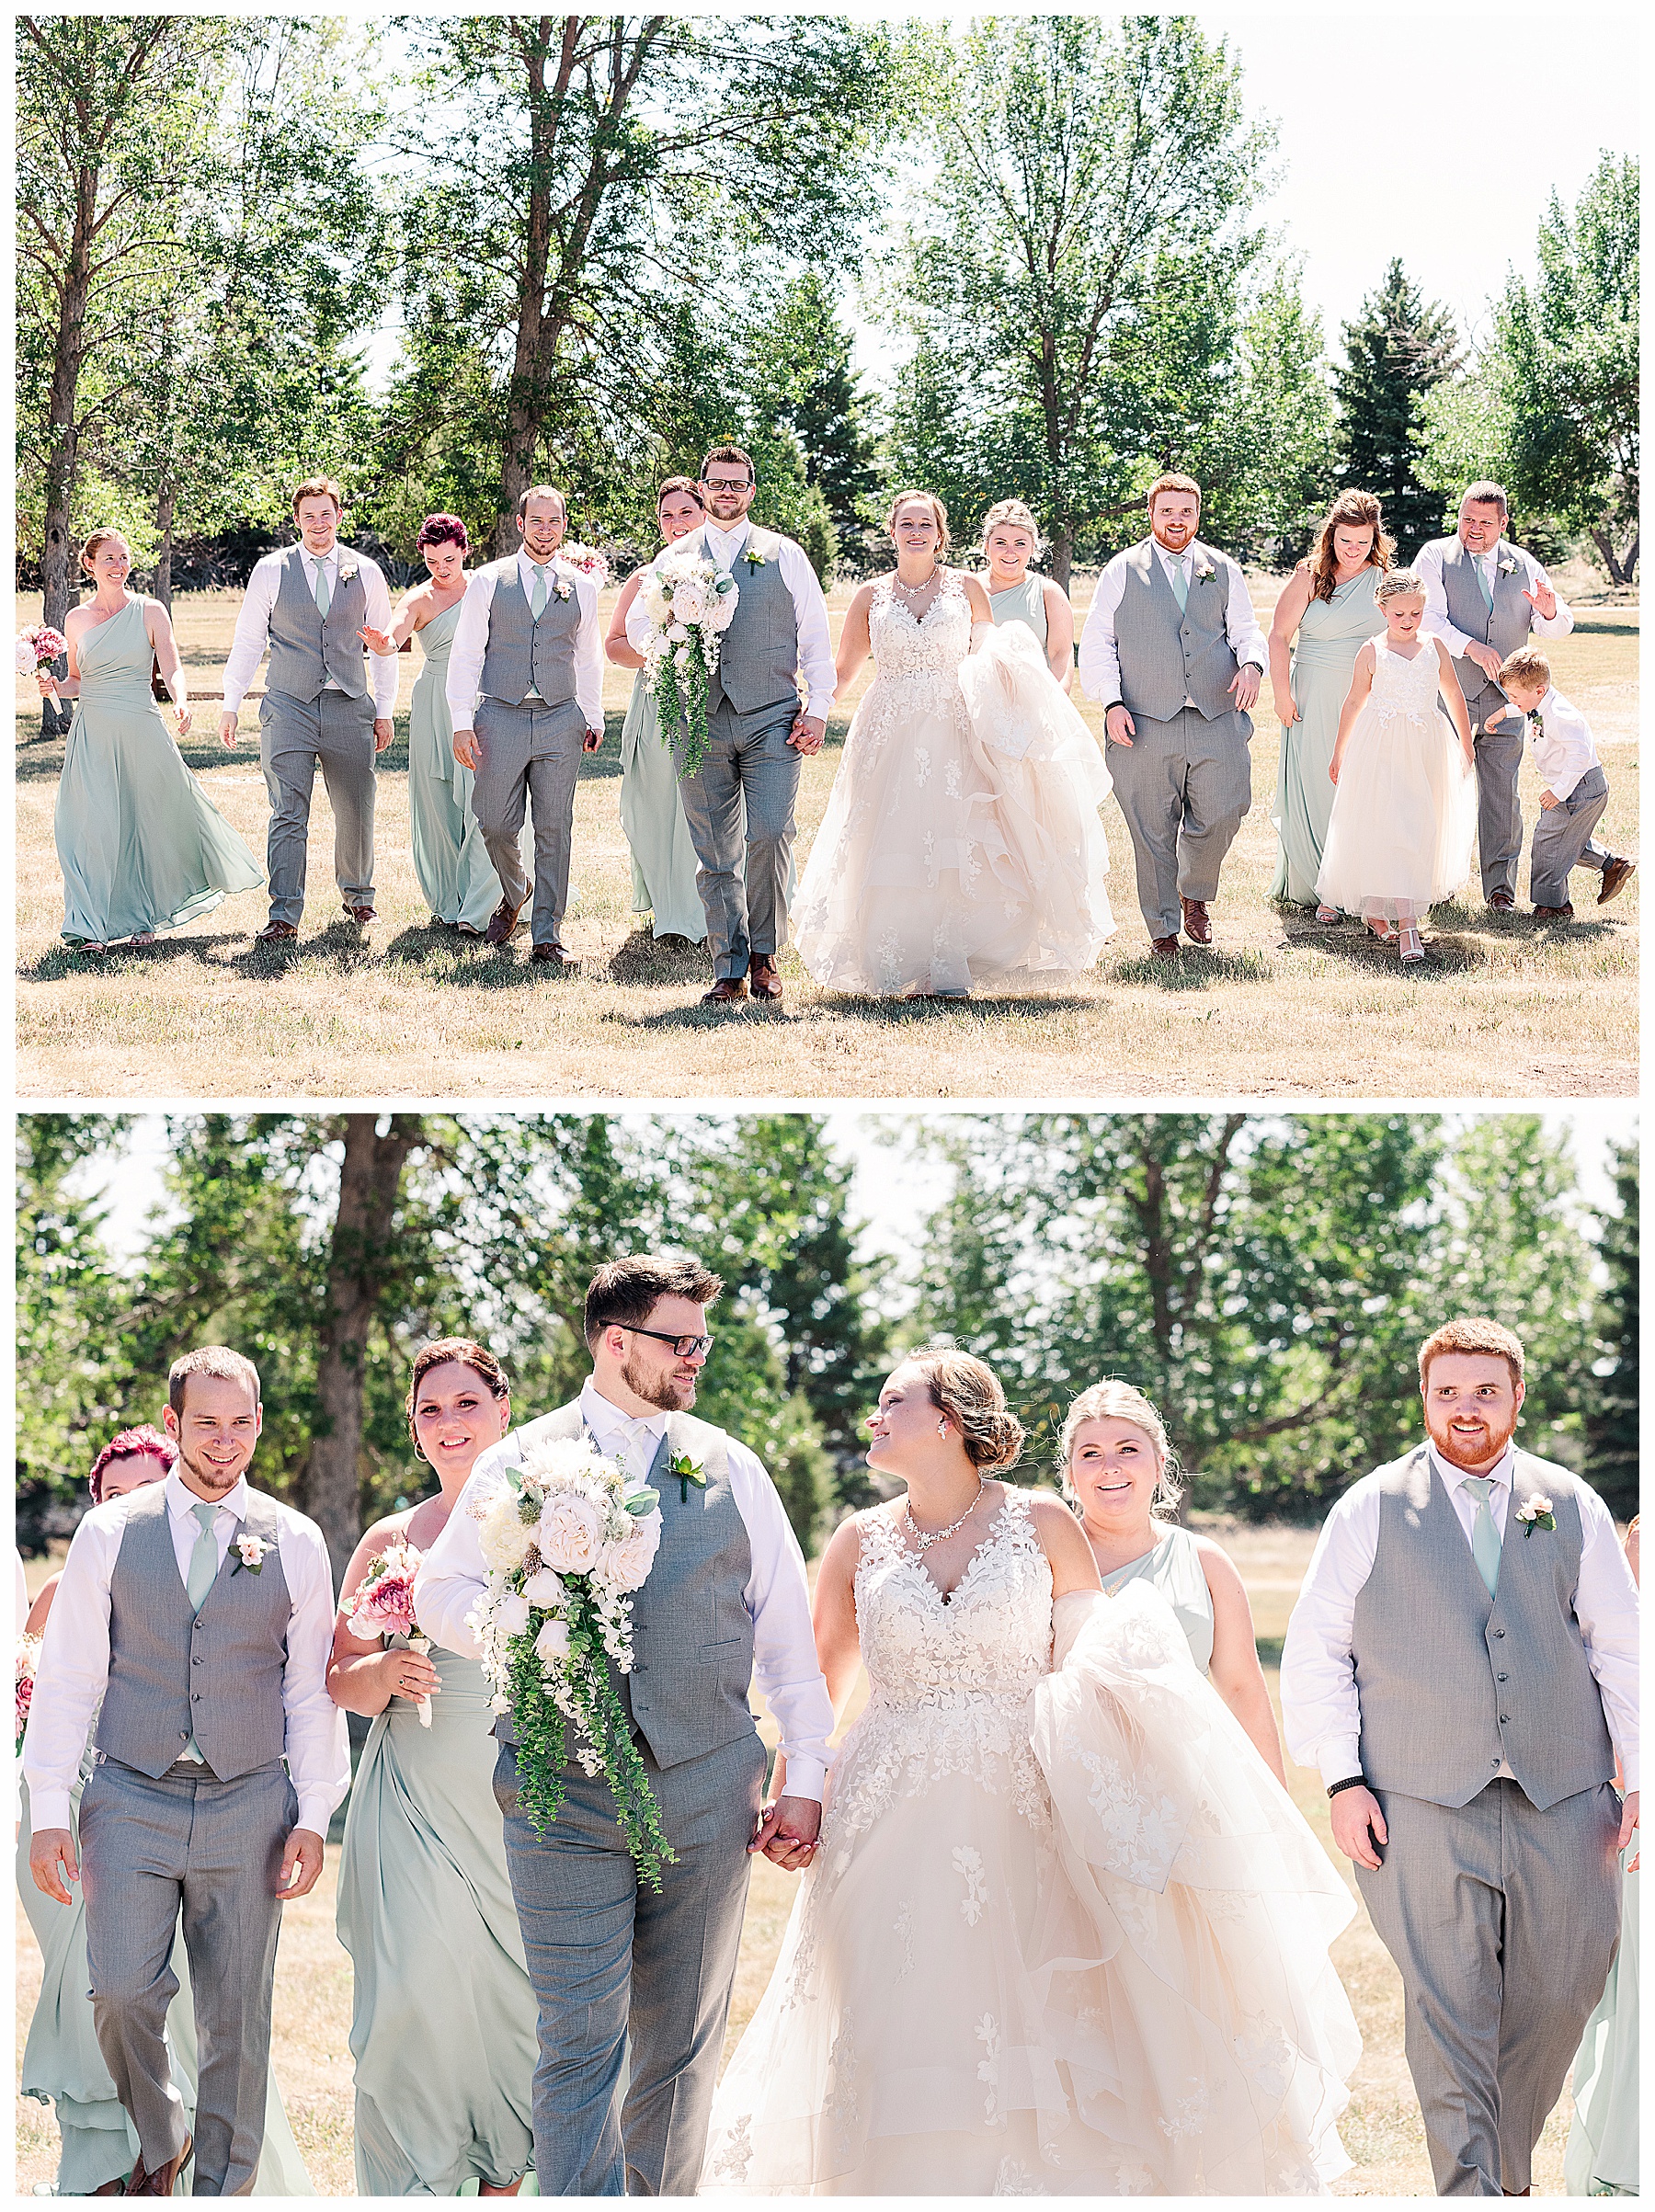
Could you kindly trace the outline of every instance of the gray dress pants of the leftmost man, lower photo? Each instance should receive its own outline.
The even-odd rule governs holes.
[[[285,1767],[221,1783],[179,1761],[159,1781],[102,1759],[80,1801],[93,2026],[144,2170],[184,2148],[166,2062],[179,1911],[195,1986],[195,2197],[248,2197],[263,2150],[281,1847],[299,1820]]]

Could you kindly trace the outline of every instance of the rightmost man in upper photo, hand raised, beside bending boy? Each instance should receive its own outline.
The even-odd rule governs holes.
[[[1467,484],[1454,538],[1434,538],[1414,555],[1425,584],[1420,630],[1440,637],[1454,655],[1476,752],[1476,841],[1482,896],[1496,914],[1511,914],[1522,858],[1522,723],[1487,723],[1502,712],[1498,675],[1507,653],[1529,633],[1566,637],[1575,617],[1547,582],[1547,571],[1522,546],[1505,540],[1507,504],[1500,484]]]

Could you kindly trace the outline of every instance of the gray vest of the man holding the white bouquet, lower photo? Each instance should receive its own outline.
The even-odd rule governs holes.
[[[518,1442],[584,1433],[580,1400],[542,1413],[513,1431]],[[746,1588],[752,1544],[730,1491],[730,1453],[724,1429],[668,1413],[666,1438],[650,1469],[662,1493],[662,1546],[642,1590],[633,1593],[633,1672],[613,1663],[608,1677],[620,1690],[633,1732],[648,1743],[659,1767],[701,1759],[754,1732],[748,1708],[752,1681],[752,1615]],[[688,1451],[706,1469],[706,1489],[668,1475],[666,1460]],[[516,1743],[513,1717],[493,1728],[502,1743]],[[564,1734],[564,1756],[573,1759],[573,1736]]]

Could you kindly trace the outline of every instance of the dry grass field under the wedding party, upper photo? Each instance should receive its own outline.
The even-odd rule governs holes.
[[[1609,770],[1600,836],[1637,854],[1637,608],[1593,602],[1586,571],[1560,577],[1580,622],[1558,641],[1560,688],[1589,714]],[[1279,580],[1255,580],[1268,619]],[[1075,584],[1084,613],[1091,580]],[[1624,595],[1622,595],[1624,597]],[[850,599],[832,595],[834,630]],[[190,595],[179,637],[201,692],[221,684],[235,593]],[[604,599],[604,613],[608,611]],[[24,602],[24,619],[38,617]],[[608,670],[608,743],[575,794],[575,896],[566,936],[577,978],[535,973],[527,942],[502,951],[431,929],[407,849],[407,695],[400,664],[396,745],[378,787],[381,922],[363,942],[339,916],[332,818],[316,787],[310,914],[296,951],[252,947],[263,898],[226,900],[144,953],[89,962],[69,953],[51,836],[62,748],[18,752],[18,1088],[27,1097],[148,1093],[279,1097],[1146,1097],[1237,1095],[1489,1097],[1631,1095],[1637,1088],[1637,878],[1600,916],[1571,927],[1493,916],[1476,894],[1440,907],[1434,960],[1401,971],[1354,922],[1321,929],[1268,902],[1277,836],[1270,805],[1277,721],[1259,701],[1252,812],[1230,849],[1210,953],[1175,967],[1146,958],[1126,825],[1111,799],[1113,902],[1120,933],[1084,978],[982,991],[969,1004],[856,1000],[816,989],[783,956],[781,1009],[704,1009],[704,951],[657,945],[631,916],[620,830],[615,734],[631,675]],[[865,679],[863,679],[865,681]],[[841,701],[828,748],[805,763],[801,860],[843,757]],[[18,686],[24,728],[33,690]],[[1102,717],[1080,701],[1095,730]],[[266,790],[257,710],[241,750],[215,739],[201,701],[186,759],[215,803],[263,856]],[[1524,816],[1538,781],[1524,765]],[[1586,878],[1580,878],[1586,885]],[[1522,872],[1527,889],[1527,863]],[[1595,894],[1586,887],[1582,898]]]

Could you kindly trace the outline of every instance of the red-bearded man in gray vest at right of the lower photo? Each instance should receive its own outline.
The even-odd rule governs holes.
[[[1281,1659],[1403,1975],[1438,2197],[1529,2194],[1637,1827],[1637,1586],[1597,1493],[1516,1449],[1522,1367],[1496,1321],[1427,1336],[1427,1442],[1334,1504]]]

